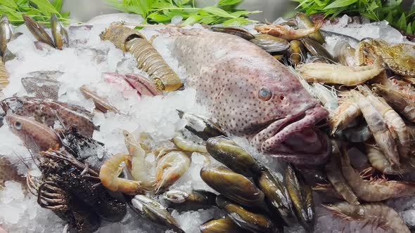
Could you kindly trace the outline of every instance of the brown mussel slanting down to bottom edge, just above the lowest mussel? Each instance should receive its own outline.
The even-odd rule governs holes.
[[[250,212],[223,195],[217,196],[216,204],[228,213],[227,216],[234,220],[236,225],[243,229],[248,229],[250,232],[276,232],[274,222],[266,215]]]

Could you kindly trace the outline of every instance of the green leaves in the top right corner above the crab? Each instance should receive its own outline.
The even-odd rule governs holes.
[[[415,32],[415,7],[409,11],[402,8],[402,0],[293,0],[298,9],[307,15],[324,13],[331,18],[340,13],[362,15],[371,20],[386,20],[397,29],[408,34]]]

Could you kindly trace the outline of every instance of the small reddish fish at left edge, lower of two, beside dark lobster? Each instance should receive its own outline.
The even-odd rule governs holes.
[[[58,137],[51,128],[25,116],[8,113],[6,122],[11,131],[32,152],[40,152],[59,145]]]

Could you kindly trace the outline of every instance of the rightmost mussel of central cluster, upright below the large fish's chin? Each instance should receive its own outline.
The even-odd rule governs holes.
[[[316,215],[311,187],[305,184],[302,175],[290,165],[286,168],[285,180],[298,220],[305,229],[312,230]]]

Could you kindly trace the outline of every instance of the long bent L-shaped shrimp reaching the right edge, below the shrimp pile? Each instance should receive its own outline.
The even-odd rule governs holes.
[[[407,197],[415,194],[415,185],[395,180],[364,180],[352,166],[349,155],[342,148],[341,168],[347,183],[356,196],[363,201],[383,201],[394,197]]]

